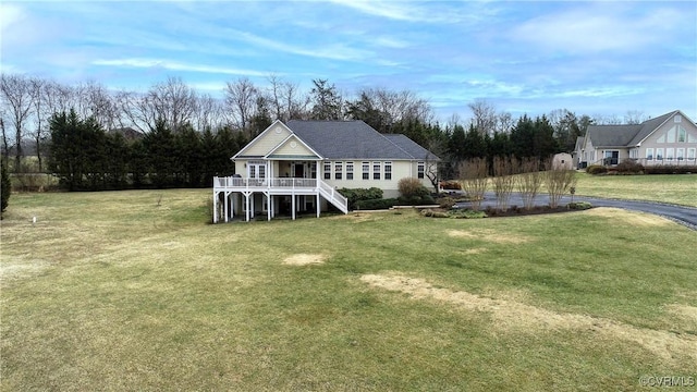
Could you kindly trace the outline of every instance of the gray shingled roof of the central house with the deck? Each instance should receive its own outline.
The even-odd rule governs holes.
[[[408,137],[386,137],[365,122],[291,120],[288,127],[326,159],[424,159],[425,148]]]

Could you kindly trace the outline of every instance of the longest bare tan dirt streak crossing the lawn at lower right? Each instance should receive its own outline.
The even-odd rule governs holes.
[[[586,315],[555,313],[514,299],[486,297],[463,291],[435,287],[418,278],[399,274],[365,274],[360,280],[372,286],[408,294],[413,299],[433,299],[456,305],[468,311],[491,315],[493,327],[502,330],[535,332],[538,330],[592,331],[601,338],[639,344],[665,360],[674,355],[689,357],[697,364],[697,336],[637,328]],[[509,296],[511,297],[511,296]],[[512,296],[515,298],[516,296]]]

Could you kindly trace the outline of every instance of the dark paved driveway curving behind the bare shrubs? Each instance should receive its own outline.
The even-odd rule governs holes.
[[[535,204],[538,206],[545,206],[549,201],[547,194],[537,195]],[[571,196],[564,196],[560,201],[560,205],[565,205],[571,201]],[[697,208],[683,207],[676,205],[669,205],[663,203],[653,201],[635,201],[635,200],[617,200],[617,199],[604,199],[598,197],[587,196],[574,196],[574,201],[588,201],[594,207],[615,207],[624,208],[634,211],[643,211],[648,213],[655,213],[661,217],[671,219],[677,223],[684,224],[693,230],[697,230]],[[513,193],[511,195],[510,205],[523,206],[523,198],[521,194]],[[461,207],[468,207],[468,203],[460,203]],[[492,206],[496,207],[497,197],[492,192],[488,192],[485,195],[485,199],[481,203],[482,207]]]

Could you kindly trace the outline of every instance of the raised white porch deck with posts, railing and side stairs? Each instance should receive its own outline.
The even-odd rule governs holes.
[[[327,204],[348,212],[347,199],[317,177],[316,161],[249,161],[245,167],[246,177],[213,177],[213,223],[280,216],[294,220],[308,211],[319,218]]]

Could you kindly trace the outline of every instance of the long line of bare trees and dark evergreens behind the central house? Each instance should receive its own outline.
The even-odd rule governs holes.
[[[274,75],[267,82],[261,87],[246,77],[229,81],[222,98],[216,98],[178,77],[137,93],[109,90],[96,82],[69,86],[2,74],[0,152],[13,172],[56,171],[64,167],[59,158],[74,155],[72,168],[89,173],[64,182],[76,188],[120,188],[126,186],[124,182],[127,186],[204,186],[209,182],[206,176],[231,170],[230,162],[225,161],[228,167],[205,163],[203,169],[186,162],[219,162],[213,157],[220,150],[228,159],[277,119],[363,120],[381,133],[402,133],[431,149],[443,160],[442,176],[452,177],[467,158],[545,158],[571,151],[589,124],[621,122],[566,109],[514,119],[486,100],[476,100],[468,105],[470,119],[453,115],[441,124],[435,121],[429,102],[408,90],[363,88],[346,95],[327,79],[311,81],[309,91]],[[623,120],[640,122],[646,117],[627,112]],[[88,147],[85,151],[74,147],[81,143]],[[166,158],[166,154],[174,156]],[[30,162],[23,159],[27,155],[34,157]],[[98,158],[102,155],[114,162]],[[81,159],[85,162],[77,164]],[[124,177],[117,171],[129,174]]]

